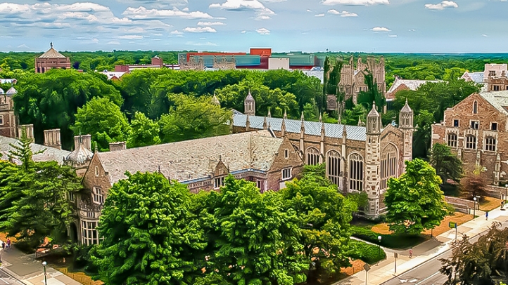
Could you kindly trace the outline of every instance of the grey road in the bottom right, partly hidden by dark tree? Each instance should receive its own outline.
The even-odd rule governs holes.
[[[502,223],[502,227],[507,227],[508,223]],[[471,239],[471,242],[475,242],[478,238],[488,232],[482,232],[478,234],[476,237]],[[439,256],[428,260],[426,263],[414,267],[412,270],[409,270],[403,274],[400,274],[398,277],[393,277],[382,285],[398,285],[398,284],[414,284],[414,285],[443,285],[447,280],[445,275],[439,272],[441,267],[441,262],[439,261],[441,258],[448,258],[452,254],[452,250],[449,249],[444,253],[441,253]]]

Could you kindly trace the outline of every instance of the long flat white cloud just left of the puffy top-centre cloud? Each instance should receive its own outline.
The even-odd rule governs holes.
[[[186,12],[179,10],[176,7],[173,7],[172,10],[157,10],[157,9],[147,9],[143,6],[139,8],[129,7],[125,9],[122,13],[127,18],[131,19],[146,19],[146,18],[167,18],[167,17],[177,17],[184,19],[213,19],[213,17],[201,11],[193,11]]]

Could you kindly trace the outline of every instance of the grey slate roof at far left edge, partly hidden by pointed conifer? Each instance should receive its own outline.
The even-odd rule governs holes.
[[[0,135],[0,153],[2,154],[2,159],[7,159],[9,152],[13,150],[11,144],[18,145],[18,140]],[[41,154],[35,154],[33,157],[34,161],[56,161],[58,164],[63,164],[63,158],[70,154],[67,150],[58,150],[54,147],[32,143],[32,152],[39,152],[41,150],[45,151]]]

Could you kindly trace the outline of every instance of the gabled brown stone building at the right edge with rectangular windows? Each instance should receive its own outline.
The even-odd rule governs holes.
[[[445,110],[432,126],[432,144],[445,143],[467,172],[483,166],[488,183],[508,182],[508,91],[475,93]]]

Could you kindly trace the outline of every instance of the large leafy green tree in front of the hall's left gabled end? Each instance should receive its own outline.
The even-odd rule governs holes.
[[[193,284],[201,270],[193,249],[203,235],[191,218],[185,185],[160,173],[126,173],[115,183],[99,223],[104,240],[91,260],[106,284]]]

